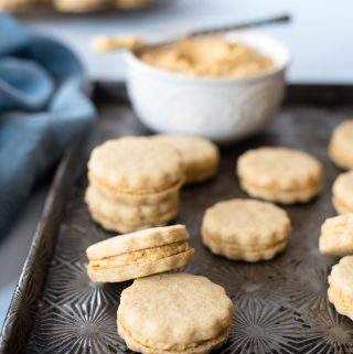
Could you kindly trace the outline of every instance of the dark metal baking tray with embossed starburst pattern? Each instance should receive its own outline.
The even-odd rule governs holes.
[[[334,257],[318,250],[320,225],[334,215],[331,185],[340,172],[328,159],[331,131],[353,116],[353,87],[291,86],[286,105],[258,136],[223,147],[216,179],[186,186],[176,223],[185,224],[195,260],[183,270],[224,286],[236,304],[227,344],[218,353],[353,353],[353,322],[327,298]],[[145,135],[116,85],[96,86],[100,119],[93,133],[62,161],[4,326],[0,353],[128,353],[116,331],[119,294],[130,282],[93,283],[85,249],[111,236],[89,217],[83,202],[90,149],[124,135]],[[286,206],[293,233],[288,249],[258,264],[212,255],[200,240],[204,210],[216,201],[246,197],[235,176],[236,158],[259,146],[287,146],[317,155],[324,165],[324,191],[311,203]]]

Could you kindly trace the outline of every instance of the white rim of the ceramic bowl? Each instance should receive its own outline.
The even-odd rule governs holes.
[[[158,78],[161,79],[169,79],[169,81],[174,81],[174,82],[188,82],[191,84],[246,84],[249,82],[257,82],[261,81],[264,78],[275,76],[281,72],[285,72],[287,67],[289,66],[291,62],[291,52],[289,47],[284,44],[281,41],[277,40],[276,37],[264,34],[260,31],[254,31],[254,30],[242,30],[242,31],[236,31],[236,32],[231,32],[225,35],[232,36],[232,35],[250,35],[253,37],[257,37],[257,40],[267,40],[272,42],[275,45],[280,47],[280,50],[285,53],[285,60],[281,64],[275,65],[275,67],[266,69],[264,72],[259,72],[258,74],[253,74],[244,77],[229,77],[229,76],[192,76],[179,72],[171,72],[167,69],[159,68],[157,66],[153,66],[151,64],[148,64],[146,62],[142,62],[137,54],[133,51],[126,50],[125,51],[125,58],[126,62],[128,63],[128,72],[130,68],[129,64],[132,64],[135,68],[138,68],[140,72],[142,72],[146,75],[150,76],[157,76]],[[244,41],[246,43],[246,40]],[[249,44],[250,46],[254,46]],[[271,54],[267,54],[271,56]],[[272,55],[272,58],[276,60],[275,55]]]

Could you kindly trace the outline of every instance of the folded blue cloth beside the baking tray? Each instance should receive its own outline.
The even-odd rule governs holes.
[[[0,14],[0,236],[35,181],[93,122],[83,83],[67,47]]]

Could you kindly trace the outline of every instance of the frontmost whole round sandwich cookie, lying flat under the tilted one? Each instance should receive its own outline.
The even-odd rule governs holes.
[[[122,291],[118,333],[142,354],[206,354],[226,342],[233,312],[225,290],[205,277],[157,275]]]

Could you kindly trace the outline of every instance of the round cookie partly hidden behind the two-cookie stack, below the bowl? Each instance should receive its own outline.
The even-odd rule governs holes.
[[[220,151],[212,141],[182,135],[159,135],[153,140],[165,142],[180,152],[185,168],[185,183],[202,182],[217,173]]]

